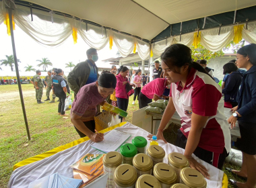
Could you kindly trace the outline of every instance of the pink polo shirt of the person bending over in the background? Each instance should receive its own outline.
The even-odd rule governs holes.
[[[164,89],[166,88],[166,79],[154,79],[147,85],[143,86],[141,89],[141,93],[146,95],[149,99],[153,99],[154,95],[158,95],[160,97],[162,93],[164,93]]]

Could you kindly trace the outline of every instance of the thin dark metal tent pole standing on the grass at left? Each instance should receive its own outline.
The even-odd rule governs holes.
[[[23,94],[22,94],[22,83],[20,82],[20,73],[19,73],[17,55],[16,55],[16,50],[15,50],[11,8],[8,8],[8,12],[9,12],[9,23],[10,23],[10,30],[11,30],[11,44],[12,44],[12,50],[13,50],[16,77],[17,77],[18,87],[19,87],[19,92],[20,92],[20,101],[22,103],[22,111],[23,111],[24,122],[25,122],[25,125],[26,125],[27,134],[28,134],[28,140],[31,140],[30,130],[28,128],[28,120],[27,120],[27,115],[26,115],[26,109],[25,109],[25,104],[24,104],[24,99],[23,99]]]

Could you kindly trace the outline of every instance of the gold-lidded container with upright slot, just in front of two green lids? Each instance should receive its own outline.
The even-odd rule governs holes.
[[[153,161],[147,154],[136,154],[133,157],[133,167],[137,171],[137,177],[141,175],[152,175]]]

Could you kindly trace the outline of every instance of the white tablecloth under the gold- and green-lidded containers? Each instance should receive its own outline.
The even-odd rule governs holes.
[[[146,138],[146,136],[148,136],[149,134],[145,130],[138,128],[137,126],[133,126],[129,123],[119,128],[116,128],[116,130],[121,130],[123,132],[131,134],[131,137],[127,140],[127,143],[131,143],[131,140],[135,136],[143,136]],[[105,134],[108,134],[108,132],[106,132]],[[59,175],[63,175],[65,177],[73,177],[73,171],[69,167],[70,164],[73,164],[74,162],[79,160],[79,158],[82,158],[82,156],[84,156],[87,153],[102,153],[99,150],[90,147],[92,143],[93,142],[91,140],[88,140],[87,142],[83,142],[81,144],[73,146],[72,148],[58,152],[57,154],[44,158],[43,160],[39,160],[37,162],[33,162],[26,166],[15,169],[15,171],[13,171],[11,175],[11,178],[9,179],[7,187],[27,188],[30,182],[45,177],[46,175],[51,175],[53,173],[59,173]],[[182,148],[178,148],[177,146],[174,146],[172,144],[165,144],[164,142],[162,142],[162,140],[159,141],[159,145],[162,146],[162,148],[164,148],[166,152],[166,156],[164,157],[164,162],[166,163],[168,163],[167,156],[170,152],[181,152],[182,154],[184,153],[184,150]],[[221,188],[223,171],[216,169],[216,167],[207,164],[206,162],[200,160],[196,156],[194,156],[194,158],[198,162],[203,164],[209,171],[211,177],[210,180],[206,180],[207,187]],[[102,188],[104,187],[105,185],[102,185]]]

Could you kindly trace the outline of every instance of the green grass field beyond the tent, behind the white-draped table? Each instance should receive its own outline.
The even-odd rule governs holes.
[[[63,119],[57,115],[58,103],[47,101],[37,104],[35,91],[31,84],[22,85],[22,91],[32,138],[30,141],[27,140],[18,85],[0,85],[0,187],[7,187],[15,163],[79,139],[70,118]],[[129,115],[125,119],[126,122],[131,122],[132,112],[139,109],[137,101],[135,105],[131,104],[132,97],[129,100]],[[42,101],[44,99],[46,99],[45,90]],[[174,142],[172,130],[175,132],[175,129],[177,130],[172,125],[164,132],[166,140],[170,143]],[[238,169],[231,164],[225,164],[225,167]],[[241,181],[230,173],[225,173],[228,177]]]

